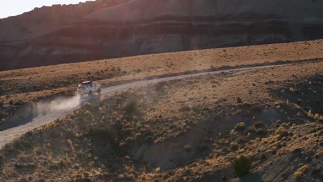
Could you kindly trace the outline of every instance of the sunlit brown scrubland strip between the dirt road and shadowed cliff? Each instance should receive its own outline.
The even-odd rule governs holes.
[[[323,41],[219,48],[105,59],[0,72],[0,123],[20,108],[58,95],[74,94],[84,80],[105,86],[206,70],[323,59]],[[1,125],[0,125],[1,128]]]

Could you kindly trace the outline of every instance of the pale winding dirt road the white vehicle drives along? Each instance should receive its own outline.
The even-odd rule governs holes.
[[[271,68],[271,67],[277,67],[277,66],[288,66],[293,65],[296,63],[280,63],[276,65],[262,65],[262,66],[251,66],[249,68],[235,68],[230,70],[219,70],[214,72],[203,72],[203,73],[197,73],[197,74],[186,74],[186,75],[180,75],[175,77],[165,77],[161,79],[150,79],[150,80],[144,80],[144,81],[134,81],[131,83],[124,83],[121,85],[115,85],[108,88],[101,89],[101,95],[104,96],[106,94],[112,94],[120,90],[124,90],[127,88],[135,88],[141,85],[147,85],[152,83],[159,83],[162,81],[171,81],[175,79],[185,79],[188,77],[197,77],[205,74],[216,74],[220,72],[233,72],[233,71],[242,71],[242,70],[256,70],[256,69],[263,69],[263,68]],[[12,142],[14,139],[17,139],[22,134],[25,134],[26,132],[30,130],[34,130],[35,128],[38,128],[42,125],[46,125],[47,123],[50,123],[52,121],[55,121],[56,119],[59,119],[61,117],[66,116],[69,112],[72,110],[75,110],[75,108],[68,108],[63,110],[52,110],[48,112],[46,115],[39,115],[38,117],[35,117],[30,121],[29,123],[19,125],[15,128],[10,128],[8,130],[3,130],[0,132],[0,148],[2,148],[6,143]]]

